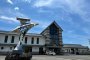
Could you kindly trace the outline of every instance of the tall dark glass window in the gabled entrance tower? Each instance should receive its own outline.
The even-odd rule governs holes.
[[[56,44],[56,46],[59,46],[59,28],[55,24],[52,24],[50,26],[50,42],[51,44]]]

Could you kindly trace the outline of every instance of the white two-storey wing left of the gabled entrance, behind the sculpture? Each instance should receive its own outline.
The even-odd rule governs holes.
[[[27,34],[23,45],[30,48],[31,52],[40,53],[39,49],[45,45],[44,38],[40,34]],[[0,31],[0,53],[11,52],[19,42],[18,33]]]

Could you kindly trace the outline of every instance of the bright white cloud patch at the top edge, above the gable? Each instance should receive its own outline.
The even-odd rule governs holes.
[[[49,7],[56,8],[62,7],[62,4],[65,4],[65,0],[36,0],[33,6],[35,7]]]

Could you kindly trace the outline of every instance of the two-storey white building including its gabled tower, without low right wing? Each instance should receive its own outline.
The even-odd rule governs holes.
[[[44,54],[47,50],[60,54],[63,46],[62,31],[54,21],[41,34],[27,33],[23,41],[23,48],[28,47],[33,54]],[[11,52],[18,42],[18,33],[0,31],[0,54]]]

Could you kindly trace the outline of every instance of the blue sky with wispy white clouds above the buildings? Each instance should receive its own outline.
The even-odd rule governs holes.
[[[63,29],[64,44],[90,47],[90,0],[0,0],[0,30],[20,25],[16,17],[39,24],[28,33],[41,33],[56,21]]]

